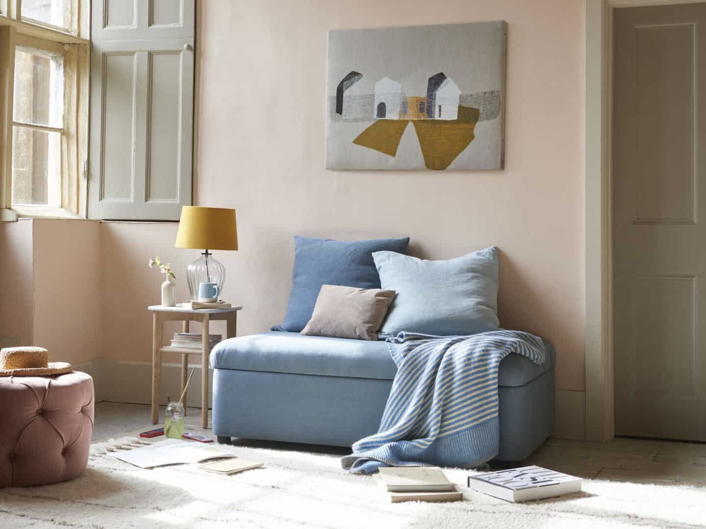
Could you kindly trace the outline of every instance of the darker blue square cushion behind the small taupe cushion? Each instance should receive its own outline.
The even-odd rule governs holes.
[[[333,241],[294,236],[294,271],[287,315],[273,331],[299,332],[311,319],[322,285],[380,288],[373,252],[406,254],[409,237],[370,241]]]

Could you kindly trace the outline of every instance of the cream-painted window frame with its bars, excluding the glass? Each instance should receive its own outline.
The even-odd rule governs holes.
[[[22,18],[21,0],[0,0],[0,221],[18,217],[86,218],[90,0],[71,1],[71,30]],[[12,205],[13,97],[16,47],[64,55],[61,206]],[[35,127],[37,129],[45,127]],[[53,127],[50,129],[54,130]]]

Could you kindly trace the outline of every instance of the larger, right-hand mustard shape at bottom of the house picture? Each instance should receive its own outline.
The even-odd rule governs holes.
[[[412,121],[426,169],[446,169],[468,147],[479,115],[479,109],[459,105],[457,119]]]

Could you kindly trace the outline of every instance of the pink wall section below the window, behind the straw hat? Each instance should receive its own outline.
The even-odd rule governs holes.
[[[46,347],[52,360],[100,358],[100,223],[0,222],[0,336]]]

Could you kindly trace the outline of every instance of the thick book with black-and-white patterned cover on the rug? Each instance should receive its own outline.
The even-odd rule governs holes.
[[[541,466],[468,476],[468,487],[507,501],[544,499],[581,492],[581,478]]]

